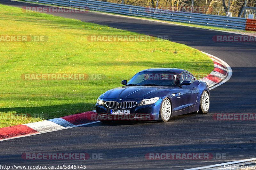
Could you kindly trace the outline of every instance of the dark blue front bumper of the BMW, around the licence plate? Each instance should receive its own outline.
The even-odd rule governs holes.
[[[108,101],[117,101],[117,99],[110,99]],[[124,102],[125,100],[122,100]],[[131,101],[131,100],[127,100]],[[112,108],[108,108],[106,105],[100,105],[96,103],[96,112],[97,112],[97,119],[98,120],[133,120],[133,121],[147,121],[147,120],[158,120],[159,118],[159,111],[161,107],[163,99],[159,99],[154,104],[149,105],[141,105],[138,106],[141,100],[136,101],[137,105],[133,108],[129,109],[118,109],[113,110],[130,110],[130,114],[111,114],[110,110]],[[105,100],[104,100],[105,102]],[[120,102],[119,102],[120,103]]]

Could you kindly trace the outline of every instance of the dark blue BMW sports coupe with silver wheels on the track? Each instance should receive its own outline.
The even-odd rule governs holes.
[[[108,90],[96,103],[97,118],[113,120],[158,120],[197,112],[207,113],[210,92],[205,82],[177,68],[150,68],[135,74],[124,86]]]

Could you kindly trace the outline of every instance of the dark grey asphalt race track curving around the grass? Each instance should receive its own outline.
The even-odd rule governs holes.
[[[26,6],[1,0],[1,4]],[[251,121],[218,121],[214,113],[255,113],[255,42],[214,42],[214,35],[234,35],[200,28],[124,18],[96,12],[54,13],[85,22],[108,25],[148,35],[167,35],[226,61],[233,70],[231,79],[211,90],[211,107],[206,115],[187,114],[167,123],[91,124],[0,142],[0,164],[63,165],[86,164],[88,169],[186,169],[239,159],[254,158],[256,124]],[[4,19],[4,18],[1,18]],[[124,77],[125,79],[125,77]],[[120,83],[121,86],[121,83]],[[107,90],[107,89],[106,89]],[[104,159],[24,160],[27,152],[103,153]],[[148,160],[147,153],[224,153],[226,158],[210,160]]]

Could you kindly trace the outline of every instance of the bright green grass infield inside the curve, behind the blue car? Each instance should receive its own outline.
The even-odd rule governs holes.
[[[0,42],[0,127],[94,110],[100,94],[152,67],[208,74],[212,60],[167,40],[89,42],[88,35],[138,35],[108,26],[0,5],[1,35],[46,35],[47,42]],[[101,80],[31,80],[26,73],[104,74]]]

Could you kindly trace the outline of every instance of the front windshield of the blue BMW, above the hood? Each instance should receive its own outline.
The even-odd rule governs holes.
[[[170,72],[141,72],[135,74],[126,86],[175,86],[177,76]]]

